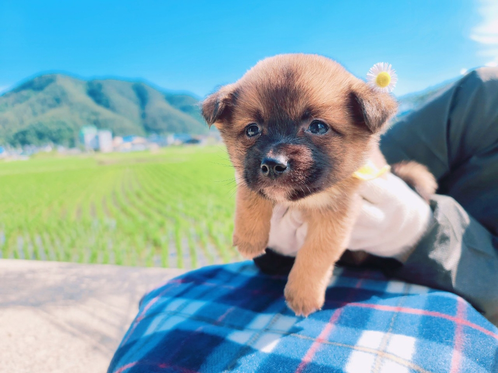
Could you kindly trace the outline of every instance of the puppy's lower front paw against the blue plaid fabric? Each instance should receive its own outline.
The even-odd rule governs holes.
[[[287,282],[284,295],[287,306],[294,311],[296,316],[307,317],[321,309],[325,302],[325,291],[297,286],[293,282]]]

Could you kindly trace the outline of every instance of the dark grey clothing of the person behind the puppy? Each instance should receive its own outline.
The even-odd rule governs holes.
[[[457,293],[498,326],[498,68],[465,75],[381,138],[438,180],[434,224],[393,274]]]

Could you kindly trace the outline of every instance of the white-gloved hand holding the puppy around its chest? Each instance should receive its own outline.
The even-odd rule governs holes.
[[[429,205],[390,173],[365,182],[360,195],[361,209],[348,249],[405,259],[429,227]],[[304,243],[307,228],[299,210],[277,205],[267,246],[283,255],[295,256]]]

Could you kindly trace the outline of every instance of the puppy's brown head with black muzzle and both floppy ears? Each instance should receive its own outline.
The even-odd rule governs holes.
[[[389,94],[328,58],[304,54],[260,61],[202,106],[245,184],[280,202],[351,177],[395,111]]]

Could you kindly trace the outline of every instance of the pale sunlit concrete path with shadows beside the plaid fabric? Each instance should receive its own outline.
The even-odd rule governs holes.
[[[141,296],[183,272],[0,259],[0,372],[106,372]]]

